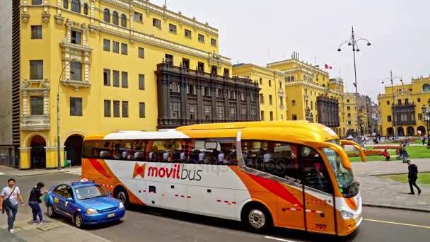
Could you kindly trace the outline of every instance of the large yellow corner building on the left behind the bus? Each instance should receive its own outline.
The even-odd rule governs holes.
[[[157,75],[163,71],[200,76],[219,85],[226,80],[243,86],[250,83],[230,78],[231,61],[219,55],[218,30],[149,1],[0,1],[0,14],[11,26],[6,28],[6,23],[0,28],[6,41],[0,46],[6,57],[0,61],[6,70],[0,74],[0,111],[6,114],[0,116],[5,126],[0,133],[0,153],[9,157],[4,163],[21,169],[56,168],[58,142],[61,160],[79,165],[81,142],[87,134],[156,130],[197,117],[203,121],[209,117],[213,122],[235,120],[236,104],[228,111],[218,104],[213,109],[195,105],[197,111],[193,111],[187,109],[193,105],[181,107],[180,101],[163,111],[170,120],[159,117],[165,107],[157,105],[157,83],[161,81]],[[170,93],[175,85],[170,82]],[[177,87],[178,93],[206,93],[204,86]],[[212,95],[220,95],[219,90],[208,89]],[[241,120],[255,120],[259,110],[252,105],[257,105],[257,94],[237,94],[242,105],[248,101],[251,106],[250,111],[240,109],[245,112]],[[202,117],[199,112],[206,108],[207,116]],[[236,113],[228,119],[223,112]]]

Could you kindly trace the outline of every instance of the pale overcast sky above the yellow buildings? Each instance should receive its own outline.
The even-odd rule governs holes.
[[[233,64],[265,66],[269,60],[289,59],[296,51],[304,62],[315,64],[316,57],[320,67],[330,64],[330,77],[339,76],[340,69],[347,91],[354,91],[352,51],[337,48],[349,39],[354,25],[356,35],[372,43],[368,47],[362,42],[356,53],[359,92],[376,103],[390,69],[407,83],[430,74],[428,0],[167,0],[167,4],[172,11],[218,28],[220,53]]]

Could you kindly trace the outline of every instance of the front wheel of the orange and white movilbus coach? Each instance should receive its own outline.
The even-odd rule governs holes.
[[[272,228],[272,216],[269,210],[262,204],[250,204],[242,213],[242,222],[250,231],[265,233]]]

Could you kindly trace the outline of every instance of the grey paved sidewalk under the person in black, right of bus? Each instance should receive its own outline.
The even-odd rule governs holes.
[[[414,159],[419,172],[430,171],[430,159]],[[356,179],[361,183],[363,205],[430,212],[430,185],[417,184],[421,195],[409,195],[409,184],[378,178],[375,175],[405,174],[407,164],[402,161],[371,161],[351,163]]]

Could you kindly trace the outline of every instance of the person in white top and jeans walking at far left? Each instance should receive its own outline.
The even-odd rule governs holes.
[[[18,213],[18,199],[23,206],[23,195],[21,195],[21,190],[16,186],[15,179],[10,178],[8,180],[8,186],[1,190],[0,195],[0,209],[3,213],[6,211],[8,215],[8,231],[11,233],[15,232],[13,229],[13,223],[16,219],[16,214]]]

